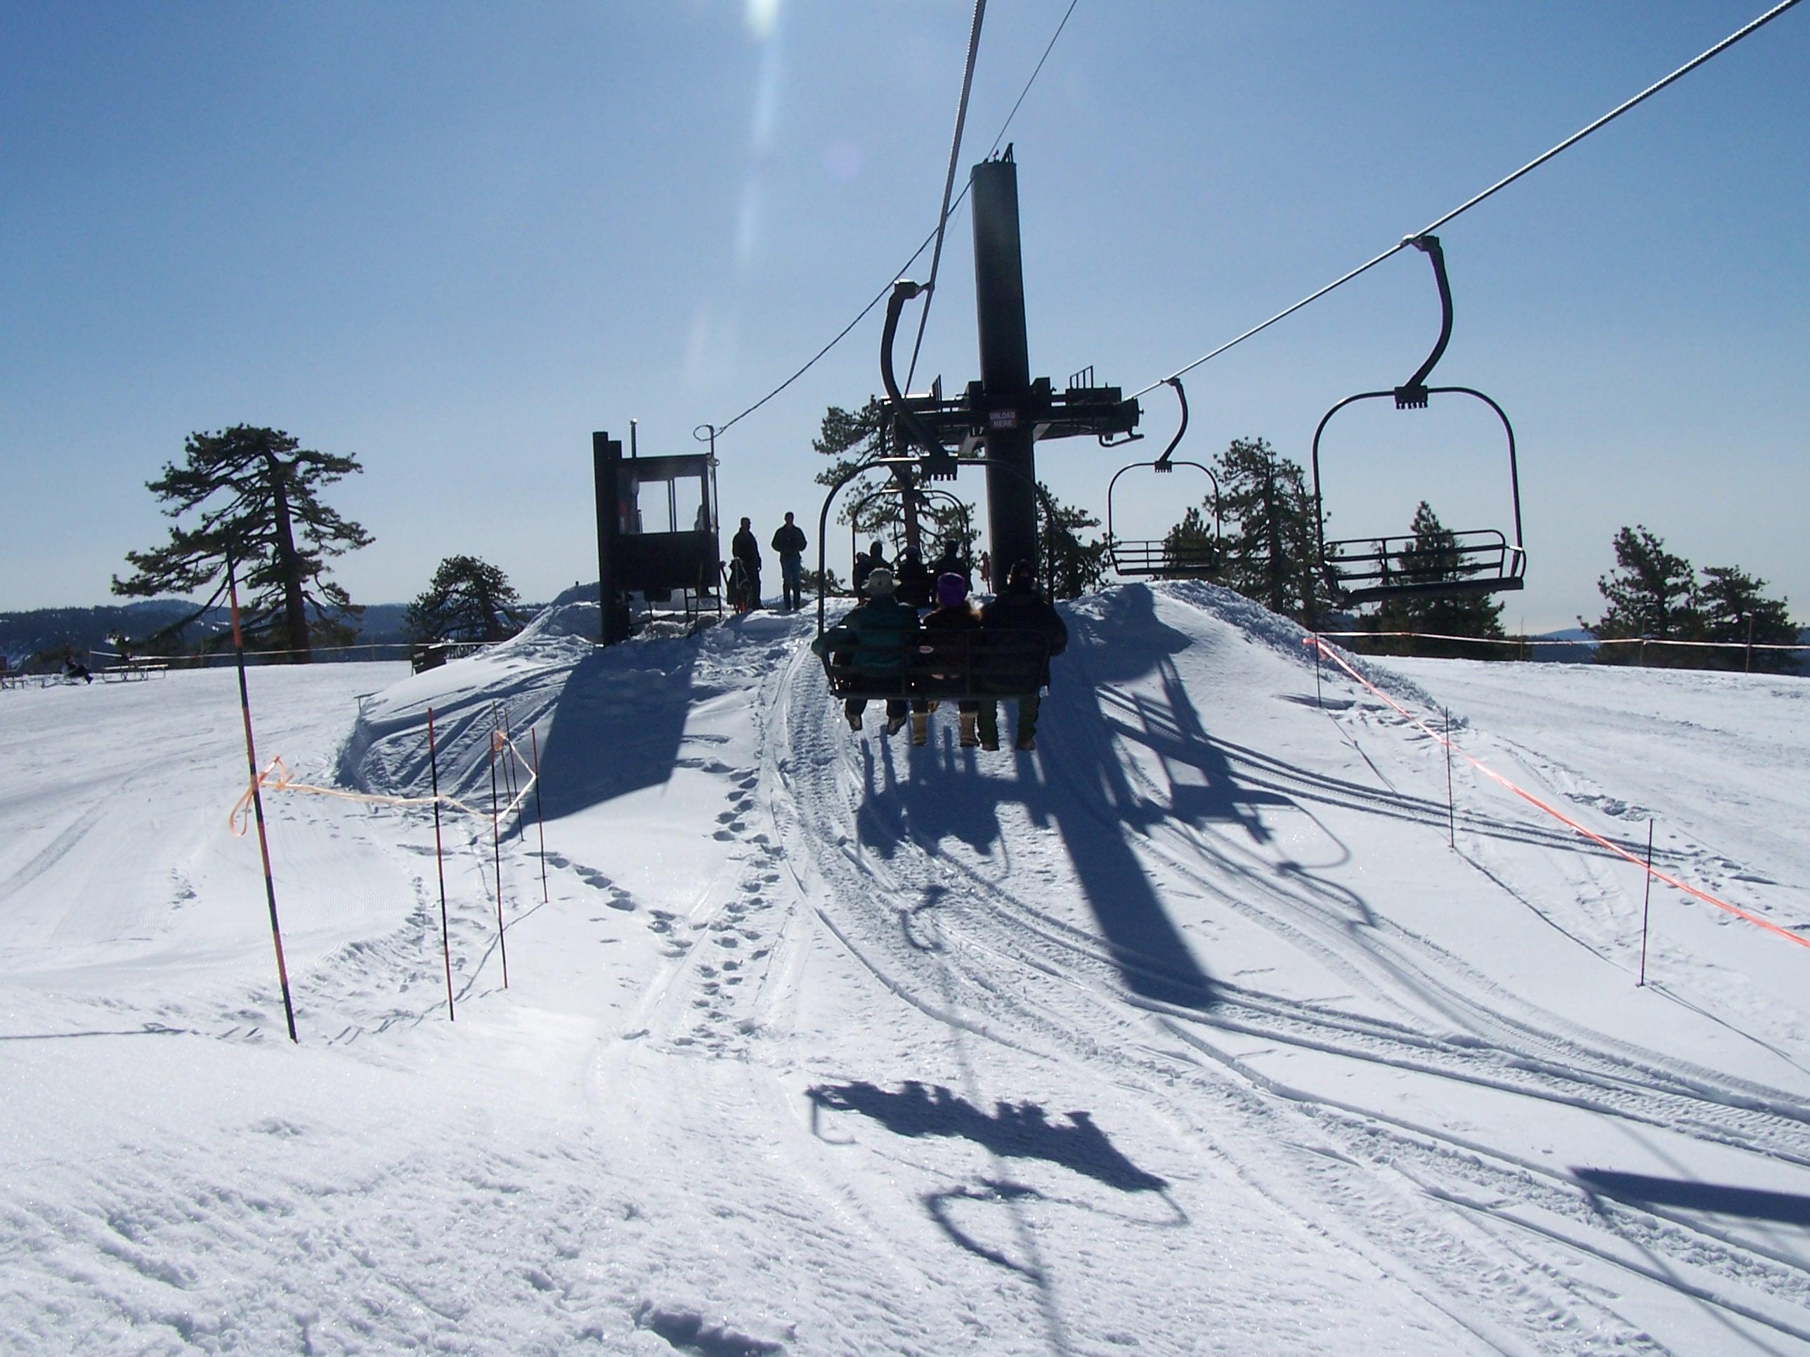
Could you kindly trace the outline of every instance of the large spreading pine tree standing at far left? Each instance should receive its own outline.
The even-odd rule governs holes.
[[[165,463],[147,489],[179,519],[203,510],[195,527],[172,527],[170,541],[127,552],[134,566],[114,575],[112,592],[127,597],[195,593],[210,597],[186,617],[159,628],[157,639],[179,633],[226,593],[226,559],[233,559],[243,628],[252,644],[279,644],[295,662],[310,659],[310,642],[342,642],[364,612],[328,579],[328,557],[371,543],[371,534],[319,492],[355,470],[355,456],[315,452],[281,429],[233,425],[217,434],[195,432],[183,445],[181,467]],[[311,621],[310,621],[311,613]]]

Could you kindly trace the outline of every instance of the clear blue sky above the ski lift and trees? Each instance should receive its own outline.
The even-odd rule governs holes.
[[[988,5],[963,165],[1066,2]],[[1160,378],[1761,9],[1081,0],[1010,130],[1032,367]],[[376,536],[337,566],[357,601],[409,599],[454,552],[532,599],[594,579],[590,431],[637,418],[643,452],[691,449],[934,224],[968,16],[5,0],[0,608],[109,601],[125,550],[165,534],[145,479],[241,422],[364,461],[333,492]],[[1491,393],[1522,443],[1511,626],[1595,617],[1625,523],[1810,619],[1806,89],[1810,5],[1443,230],[1437,376]],[[968,232],[963,212],[918,385],[977,376]],[[1305,463],[1325,407],[1403,382],[1435,329],[1403,251],[1198,369],[1184,447],[1263,436]],[[809,440],[878,389],[878,333],[874,313],[720,441],[726,517],[769,536],[793,508],[814,536]],[[1157,393],[1146,427],[1171,420]],[[1329,443],[1334,530],[1405,530],[1421,498],[1506,525],[1497,436],[1354,418]],[[1095,512],[1120,460],[1039,449]],[[1184,494],[1128,494],[1122,536],[1158,536]]]

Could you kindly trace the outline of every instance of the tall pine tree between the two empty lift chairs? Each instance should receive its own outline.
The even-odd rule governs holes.
[[[1234,438],[1215,458],[1220,510],[1236,523],[1224,537],[1225,583],[1307,626],[1330,610],[1319,575],[1314,498],[1301,469],[1262,438]],[[1211,505],[1209,505],[1211,507]]]

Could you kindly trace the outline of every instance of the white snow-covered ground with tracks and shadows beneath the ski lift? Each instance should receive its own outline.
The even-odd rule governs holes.
[[[0,702],[0,1348],[1810,1352],[1810,948],[1207,586],[1075,604],[1035,754],[851,735],[802,617]],[[1810,935],[1810,686],[1370,662]],[[1437,716],[1435,716],[1437,722]],[[505,792],[507,796],[507,785]],[[529,800],[532,811],[532,798]]]

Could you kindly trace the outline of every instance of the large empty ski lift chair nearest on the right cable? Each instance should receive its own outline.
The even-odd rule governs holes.
[[[1446,257],[1439,248],[1439,237],[1419,235],[1412,242],[1434,264],[1434,280],[1439,284],[1439,340],[1426,362],[1408,378],[1405,385],[1392,391],[1361,391],[1347,396],[1319,420],[1314,429],[1314,512],[1316,534],[1319,541],[1319,572],[1332,592],[1332,597],[1345,606],[1361,603],[1385,603],[1405,597],[1439,597],[1466,593],[1500,593],[1519,590],[1528,566],[1528,555],[1520,545],[1520,469],[1515,458],[1515,429],[1508,414],[1490,396],[1472,387],[1430,387],[1426,385],[1434,364],[1446,351],[1452,338],[1452,284],[1446,280]],[[1397,411],[1426,409],[1432,396],[1470,396],[1481,400],[1508,436],[1508,489],[1513,510],[1515,536],[1510,539],[1499,528],[1470,528],[1452,532],[1450,541],[1428,545],[1414,534],[1379,537],[1345,537],[1327,541],[1327,512],[1319,483],[1319,440],[1332,422],[1332,416],[1359,400],[1394,398]]]

